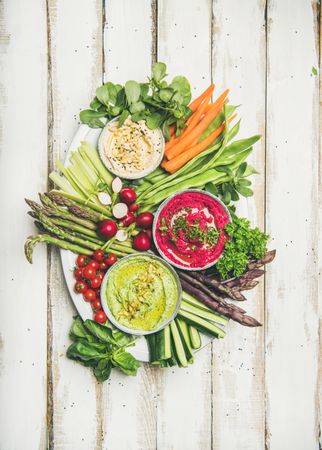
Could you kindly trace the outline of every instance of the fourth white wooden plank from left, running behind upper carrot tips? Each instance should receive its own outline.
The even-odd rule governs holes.
[[[210,36],[208,0],[158,2],[158,59],[168,65],[170,77],[188,77],[194,97],[211,82]],[[157,448],[211,448],[211,377],[211,345],[196,354],[188,369],[159,373]]]

